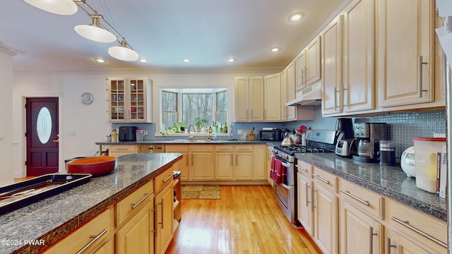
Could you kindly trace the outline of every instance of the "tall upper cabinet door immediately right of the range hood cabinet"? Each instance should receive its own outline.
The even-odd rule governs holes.
[[[322,114],[324,115],[340,113],[343,107],[342,18],[338,16],[321,32]]]

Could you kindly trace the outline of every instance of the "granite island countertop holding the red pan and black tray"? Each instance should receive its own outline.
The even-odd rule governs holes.
[[[118,157],[111,174],[93,177],[13,212],[0,215],[0,253],[37,253],[182,159],[179,153]],[[27,241],[38,240],[25,245]]]

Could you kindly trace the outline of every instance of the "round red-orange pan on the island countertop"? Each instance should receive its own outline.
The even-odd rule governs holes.
[[[116,169],[117,165],[117,157],[86,157],[68,162],[66,164],[66,170],[69,174],[92,174],[93,176],[103,176]]]

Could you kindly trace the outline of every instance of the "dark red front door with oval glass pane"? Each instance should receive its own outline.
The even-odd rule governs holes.
[[[27,176],[58,172],[58,98],[27,98]]]

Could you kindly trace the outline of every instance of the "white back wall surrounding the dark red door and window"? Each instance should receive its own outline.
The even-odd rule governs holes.
[[[106,139],[112,124],[108,122],[108,77],[148,77],[153,80],[153,121],[158,120],[158,89],[160,87],[227,87],[233,95],[235,76],[268,75],[270,73],[14,73],[13,141],[15,176],[26,175],[25,166],[25,97],[59,97],[59,166],[64,172],[64,159],[93,156],[96,141]],[[91,92],[93,104],[80,101],[83,92]],[[233,98],[231,96],[230,98]],[[232,109],[233,100],[230,100]],[[75,132],[75,135],[71,133]],[[149,133],[152,135],[151,133]]]

